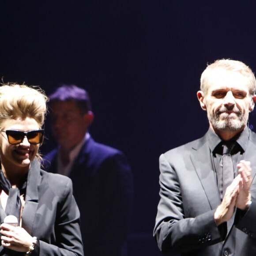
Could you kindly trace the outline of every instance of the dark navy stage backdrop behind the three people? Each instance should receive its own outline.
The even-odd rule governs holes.
[[[254,0],[24,0],[0,2],[0,76],[85,88],[98,142],[127,155],[135,180],[130,255],[158,255],[152,238],[158,157],[203,136],[196,91],[207,63],[241,60],[256,71]],[[256,123],[255,114],[250,118]],[[54,141],[42,146],[46,153]]]

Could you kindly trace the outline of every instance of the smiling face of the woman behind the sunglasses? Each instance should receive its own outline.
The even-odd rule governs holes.
[[[6,130],[19,130],[28,132],[38,130],[39,124],[34,118],[26,117],[26,119],[8,119],[2,123],[2,131]],[[25,168],[29,169],[30,163],[38,153],[39,144],[30,144],[26,136],[21,143],[12,145],[8,141],[5,132],[0,132],[0,154],[1,163],[5,169]]]

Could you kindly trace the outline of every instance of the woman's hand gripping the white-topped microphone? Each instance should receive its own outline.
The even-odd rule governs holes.
[[[0,225],[1,244],[5,248],[17,252],[27,252],[33,245],[33,237],[20,226],[11,226],[7,223]]]

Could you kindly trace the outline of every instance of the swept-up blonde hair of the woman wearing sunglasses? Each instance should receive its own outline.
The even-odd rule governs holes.
[[[0,128],[4,120],[34,118],[42,128],[49,99],[40,87],[4,83],[0,86]],[[37,158],[41,158],[38,153]]]

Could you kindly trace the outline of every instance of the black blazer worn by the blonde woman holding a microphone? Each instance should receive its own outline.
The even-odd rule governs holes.
[[[40,163],[34,160],[28,175],[22,213],[22,227],[32,237],[38,238],[32,255],[83,256],[79,216],[72,195],[72,181],[41,170]],[[1,223],[5,217],[0,204]],[[0,255],[9,255],[2,245]]]

